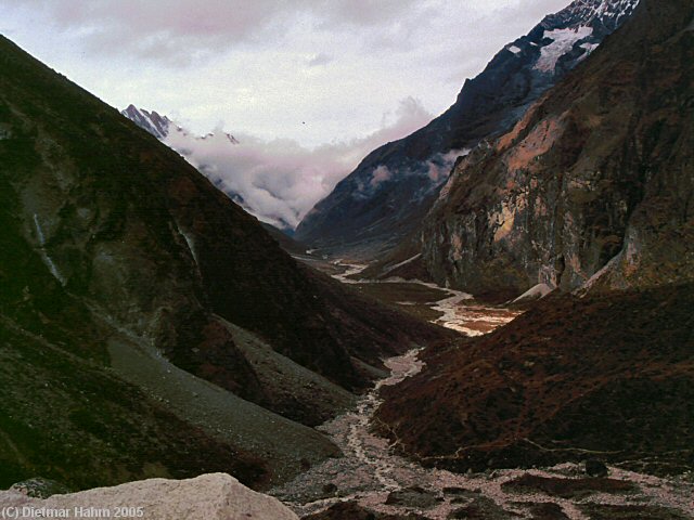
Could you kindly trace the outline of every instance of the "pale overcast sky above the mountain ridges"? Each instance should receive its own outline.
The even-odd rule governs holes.
[[[118,108],[313,147],[411,132],[568,3],[0,0],[0,31]]]

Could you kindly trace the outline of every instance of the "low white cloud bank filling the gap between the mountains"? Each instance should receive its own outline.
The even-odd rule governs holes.
[[[413,132],[432,115],[416,100],[402,100],[383,115],[382,128],[346,142],[306,147],[288,139],[264,140],[232,132],[237,144],[217,128],[205,139],[172,131],[166,139],[196,168],[265,222],[295,227],[316,203],[377,146]],[[385,167],[374,171],[372,187],[390,178]]]

